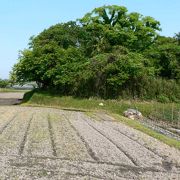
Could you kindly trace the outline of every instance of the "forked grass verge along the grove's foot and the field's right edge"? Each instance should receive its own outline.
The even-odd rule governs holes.
[[[99,103],[101,102],[104,104],[104,106],[99,106]],[[42,91],[31,91],[26,93],[24,96],[23,104],[30,106],[55,107],[61,109],[76,109],[87,112],[103,110],[114,116],[115,119],[117,119],[118,121],[121,121],[122,123],[130,127],[133,127],[134,129],[142,131],[168,144],[169,146],[173,146],[177,149],[180,149],[179,141],[176,141],[162,134],[154,132],[153,130],[144,127],[138,121],[130,120],[120,116],[127,108],[137,108],[143,113],[144,116],[148,116],[152,114],[153,109],[155,109],[156,106],[159,108],[163,107],[164,110],[165,108],[170,108],[172,104],[162,104],[158,102],[140,102],[140,101],[130,101],[130,100],[101,100],[95,98],[81,99],[81,98],[74,98],[71,96],[54,95],[52,93],[47,93]],[[173,104],[173,107],[178,109],[180,105]]]

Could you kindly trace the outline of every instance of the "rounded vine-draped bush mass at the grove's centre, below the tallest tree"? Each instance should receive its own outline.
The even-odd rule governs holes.
[[[120,89],[127,88],[134,93],[136,84],[144,76],[153,76],[153,68],[145,67],[146,59],[137,53],[125,54],[99,54],[90,59],[82,73],[86,81],[82,84],[83,94],[88,96],[100,96],[104,98],[116,98],[120,95]],[[87,71],[89,76],[87,76]],[[90,88],[89,89],[89,85]],[[85,92],[85,90],[87,92]],[[94,94],[92,94],[94,92]],[[79,92],[80,93],[80,92]]]

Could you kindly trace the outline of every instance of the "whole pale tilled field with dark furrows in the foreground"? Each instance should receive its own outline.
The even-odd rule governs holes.
[[[178,150],[95,116],[0,106],[0,179],[180,179]]]

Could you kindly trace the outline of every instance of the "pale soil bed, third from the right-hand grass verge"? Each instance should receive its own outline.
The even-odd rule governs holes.
[[[72,114],[70,122],[86,140],[100,161],[131,164],[134,163],[107,138],[89,126],[80,116],[80,113]]]

